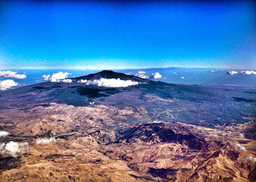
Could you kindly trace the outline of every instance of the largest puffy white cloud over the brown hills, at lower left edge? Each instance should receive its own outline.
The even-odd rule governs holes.
[[[19,142],[8,142],[7,144],[0,144],[0,153],[1,155],[17,157],[23,155],[24,153],[29,152],[28,142],[19,143]]]

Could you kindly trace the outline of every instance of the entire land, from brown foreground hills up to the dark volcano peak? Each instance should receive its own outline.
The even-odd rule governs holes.
[[[79,82],[102,78],[138,84]],[[105,71],[0,95],[1,181],[256,181],[253,87]]]

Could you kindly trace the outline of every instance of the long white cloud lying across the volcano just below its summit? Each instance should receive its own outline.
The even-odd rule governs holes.
[[[100,87],[128,87],[138,85],[138,82],[132,80],[120,80],[120,79],[99,79],[99,80],[88,80],[86,85],[96,85]]]

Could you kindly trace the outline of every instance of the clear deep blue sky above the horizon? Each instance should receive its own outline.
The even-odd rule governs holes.
[[[253,1],[1,1],[0,68],[256,68]]]

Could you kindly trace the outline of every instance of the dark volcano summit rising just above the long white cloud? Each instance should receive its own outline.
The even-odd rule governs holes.
[[[120,79],[120,80],[132,80],[134,82],[149,82],[150,80],[141,79],[134,75],[126,75],[125,73],[116,73],[111,70],[103,70],[99,73],[93,73],[90,75],[76,77],[72,80],[99,80],[99,79]]]

